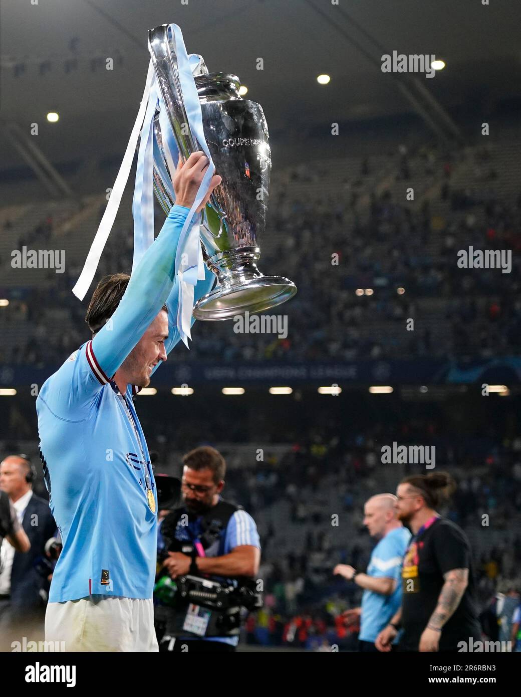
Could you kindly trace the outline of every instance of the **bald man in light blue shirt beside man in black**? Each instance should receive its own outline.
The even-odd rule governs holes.
[[[376,637],[401,604],[400,573],[411,534],[396,517],[392,493],[373,496],[364,506],[364,525],[379,542],[371,553],[365,574],[352,566],[339,564],[334,573],[364,588],[361,607],[344,613],[349,624],[360,620],[359,650],[377,652]]]

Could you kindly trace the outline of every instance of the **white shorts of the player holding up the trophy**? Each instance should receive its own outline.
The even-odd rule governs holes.
[[[152,599],[91,595],[48,603],[45,641],[64,651],[159,651]]]

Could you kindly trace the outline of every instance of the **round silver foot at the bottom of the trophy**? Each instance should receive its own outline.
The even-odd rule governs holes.
[[[293,298],[297,286],[283,276],[263,276],[257,269],[258,248],[243,247],[208,259],[208,268],[221,283],[200,298],[192,313],[195,319],[220,321],[249,312],[263,312]]]

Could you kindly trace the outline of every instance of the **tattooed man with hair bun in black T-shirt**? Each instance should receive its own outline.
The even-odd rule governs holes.
[[[480,641],[474,573],[467,536],[437,508],[456,489],[446,473],[405,477],[396,511],[412,532],[402,567],[402,604],[375,641],[390,651],[403,628],[401,651],[458,651]]]

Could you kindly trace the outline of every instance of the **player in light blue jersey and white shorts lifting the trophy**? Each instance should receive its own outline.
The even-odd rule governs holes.
[[[116,274],[98,284],[86,315],[93,339],[47,379],[36,401],[49,505],[63,542],[45,634],[68,651],[158,650],[157,494],[132,395],[180,339],[176,249],[207,168],[201,152],[178,162],[176,206],[160,234],[130,279]],[[220,182],[212,178],[199,210]],[[213,281],[205,269],[194,301]]]

